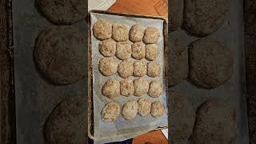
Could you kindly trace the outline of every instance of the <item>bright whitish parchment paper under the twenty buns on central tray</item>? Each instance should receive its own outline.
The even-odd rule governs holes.
[[[149,18],[130,18],[124,16],[110,15],[110,14],[98,14],[91,13],[91,30],[94,25],[94,22],[97,22],[99,19],[105,19],[110,22],[119,22],[129,26],[129,29],[134,24],[139,24],[141,26],[154,26],[160,31],[160,38],[158,39],[158,49],[159,56],[156,60],[161,65],[161,75],[158,78],[150,78],[144,76],[142,78],[151,82],[152,80],[158,80],[163,84],[163,93],[159,98],[151,98],[149,95],[142,97],[125,97],[120,96],[111,100],[102,96],[102,86],[104,83],[112,78],[118,81],[121,81],[123,78],[119,77],[118,74],[114,74],[110,77],[103,76],[98,70],[98,62],[100,58],[103,58],[102,54],[98,51],[98,41],[94,38],[94,34],[91,33],[91,46],[92,46],[92,67],[93,67],[93,98],[94,98],[94,139],[101,142],[113,142],[113,141],[122,141],[128,138],[134,138],[139,134],[144,134],[147,131],[154,130],[158,126],[167,126],[167,106],[166,106],[166,89],[164,85],[164,41],[163,41],[163,20],[161,19],[149,19]],[[132,44],[132,42],[130,42]],[[120,63],[121,60],[118,60],[115,56],[113,57],[116,62]],[[130,61],[138,61],[134,58],[129,58]],[[146,59],[144,59],[146,61]],[[150,61],[146,61],[150,62]],[[137,77],[138,78],[138,77]],[[134,80],[136,77],[130,77],[129,79]],[[103,122],[101,118],[102,108],[106,105],[107,102],[118,102],[122,108],[123,104],[129,100],[138,100],[139,98],[150,98],[151,102],[163,102],[166,108],[165,114],[160,118],[153,118],[151,115],[142,117],[139,114],[130,121],[126,121],[122,118],[122,114],[119,114],[118,119],[115,122]]]

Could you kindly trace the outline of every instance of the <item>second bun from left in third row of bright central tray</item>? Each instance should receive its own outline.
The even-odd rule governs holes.
[[[129,78],[130,76],[132,76],[134,74],[134,62],[130,62],[127,60],[122,61],[118,65],[118,74],[122,78]]]

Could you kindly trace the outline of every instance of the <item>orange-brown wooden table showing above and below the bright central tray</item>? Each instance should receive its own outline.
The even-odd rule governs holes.
[[[162,6],[162,0],[118,0],[107,10],[116,13],[143,14],[168,17],[166,12],[159,7]],[[162,15],[161,15],[162,14]],[[167,144],[166,137],[161,130],[150,131],[134,138],[133,144]]]

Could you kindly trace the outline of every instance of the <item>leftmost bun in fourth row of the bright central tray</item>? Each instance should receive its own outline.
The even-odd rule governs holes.
[[[109,79],[102,86],[102,95],[107,98],[116,98],[120,94],[120,83],[116,80]]]

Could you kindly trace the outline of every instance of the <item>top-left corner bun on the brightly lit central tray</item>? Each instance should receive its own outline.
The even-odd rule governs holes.
[[[112,24],[105,20],[98,20],[93,26],[94,37],[98,40],[109,39],[112,36]]]

